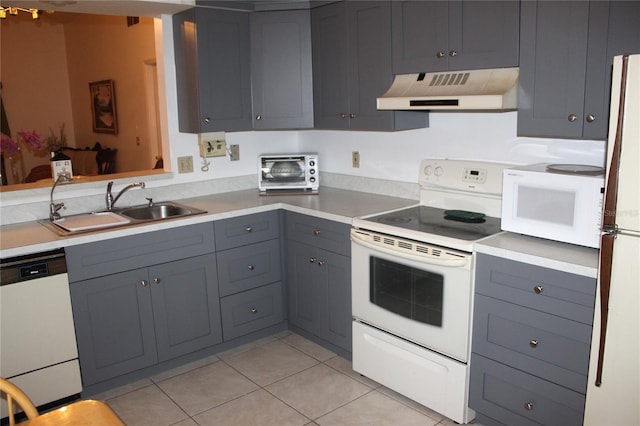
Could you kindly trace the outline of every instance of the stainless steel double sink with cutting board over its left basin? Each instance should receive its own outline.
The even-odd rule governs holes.
[[[206,213],[206,211],[195,209],[184,204],[166,201],[108,211],[63,216],[53,222],[47,220],[41,221],[41,223],[48,225],[50,229],[58,234],[73,235],[80,232],[127,225],[139,225],[203,213]]]

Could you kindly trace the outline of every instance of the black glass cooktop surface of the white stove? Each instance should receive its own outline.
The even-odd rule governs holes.
[[[500,232],[500,219],[464,210],[414,206],[365,220],[415,232],[475,241]]]

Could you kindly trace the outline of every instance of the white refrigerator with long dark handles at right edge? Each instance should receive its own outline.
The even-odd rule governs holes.
[[[640,425],[640,55],[616,56],[584,424]]]

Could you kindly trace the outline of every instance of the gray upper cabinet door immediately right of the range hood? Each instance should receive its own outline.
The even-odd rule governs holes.
[[[580,138],[589,3],[521,3],[518,134]]]

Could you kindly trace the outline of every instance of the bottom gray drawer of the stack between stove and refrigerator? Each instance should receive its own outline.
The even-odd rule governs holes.
[[[579,426],[584,402],[582,394],[471,355],[469,406],[505,425]]]

